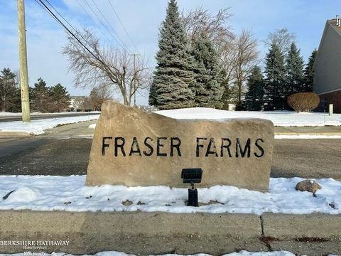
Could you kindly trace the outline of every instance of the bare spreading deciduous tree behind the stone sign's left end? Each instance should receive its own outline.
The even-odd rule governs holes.
[[[146,60],[138,58],[134,66],[126,50],[101,47],[92,31],[84,29],[77,35],[93,55],[75,38],[69,37],[63,54],[67,55],[69,68],[75,73],[75,86],[95,87],[104,83],[120,92],[124,105],[131,105],[134,94],[150,84],[151,68]]]

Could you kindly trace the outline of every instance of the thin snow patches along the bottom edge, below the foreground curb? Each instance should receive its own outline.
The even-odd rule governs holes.
[[[10,255],[10,254],[6,254]],[[26,255],[27,252],[26,252]],[[70,254],[65,254],[64,252],[53,252],[51,254],[44,253],[45,256],[72,256]],[[173,254],[174,255],[174,254]],[[0,256],[5,256],[4,254],[0,254]],[[16,253],[12,254],[11,256],[24,256],[23,253]],[[131,256],[124,252],[98,252],[95,256]],[[163,255],[163,256],[172,256],[172,254]],[[175,255],[174,255],[175,256]],[[210,256],[204,253],[196,254],[196,255],[187,255],[187,256]],[[247,252],[247,251],[240,251],[240,252],[232,252],[224,256],[295,256],[291,252],[287,251],[277,251],[277,252]]]

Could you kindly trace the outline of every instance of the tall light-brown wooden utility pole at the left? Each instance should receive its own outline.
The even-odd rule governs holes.
[[[25,4],[23,1],[24,0],[18,0],[18,35],[19,35],[21,112],[22,112],[23,122],[31,122],[30,98],[28,96]]]

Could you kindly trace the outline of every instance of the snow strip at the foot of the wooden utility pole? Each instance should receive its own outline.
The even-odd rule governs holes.
[[[77,122],[90,121],[99,119],[99,114],[92,114],[80,117],[58,117],[50,119],[31,120],[30,123],[16,122],[1,122],[0,132],[27,132],[29,134],[43,134],[46,129],[51,129],[62,124],[73,124]]]

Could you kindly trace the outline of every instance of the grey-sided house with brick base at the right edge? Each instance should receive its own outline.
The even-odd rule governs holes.
[[[313,90],[321,102],[334,105],[334,112],[341,113],[341,19],[328,20],[320,41],[315,64]]]

